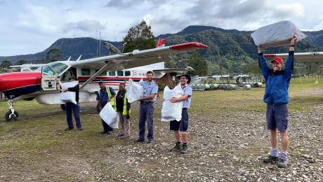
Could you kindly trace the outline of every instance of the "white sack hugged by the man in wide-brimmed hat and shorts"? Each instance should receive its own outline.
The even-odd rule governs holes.
[[[164,89],[164,102],[162,106],[162,121],[167,122],[171,120],[180,121],[182,119],[183,101],[172,103],[171,97],[179,98],[183,96],[184,92],[180,84],[170,90],[168,86]]]

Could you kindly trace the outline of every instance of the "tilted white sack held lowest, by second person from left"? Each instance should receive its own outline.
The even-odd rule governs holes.
[[[117,115],[118,113],[114,111],[110,102],[105,104],[105,106],[100,112],[100,117],[105,121],[105,123],[107,123],[107,125],[113,128],[119,128],[117,122]]]

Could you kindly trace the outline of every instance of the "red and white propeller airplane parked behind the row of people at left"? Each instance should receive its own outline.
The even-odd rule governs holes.
[[[62,83],[71,77],[77,77],[80,85],[79,102],[96,102],[95,91],[99,90],[100,80],[115,89],[121,82],[127,85],[129,78],[137,82],[142,78],[145,80],[148,70],[153,71],[154,78],[162,78],[173,71],[189,71],[192,68],[164,69],[164,62],[171,59],[171,53],[208,48],[207,45],[197,42],[169,46],[163,46],[163,43],[164,41],[158,41],[156,48],[148,50],[118,52],[115,55],[91,59],[81,60],[79,57],[77,61],[70,61],[69,58],[48,64],[13,66],[20,67],[21,71],[0,74],[0,92],[8,98],[9,105],[9,111],[5,114],[6,121],[19,118],[18,112],[13,108],[18,99],[36,99],[39,104],[62,104],[57,81]],[[37,66],[39,67],[33,71]],[[157,69],[152,70],[153,67]]]

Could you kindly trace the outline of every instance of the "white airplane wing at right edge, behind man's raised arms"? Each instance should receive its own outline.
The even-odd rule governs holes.
[[[265,54],[266,58],[282,57],[286,59],[288,53],[282,54]],[[298,52],[294,54],[295,61],[298,62],[323,62],[323,52]]]

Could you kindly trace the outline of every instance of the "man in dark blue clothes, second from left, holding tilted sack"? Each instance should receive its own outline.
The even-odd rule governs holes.
[[[116,95],[116,92],[114,92],[112,87],[105,86],[105,82],[102,80],[98,84],[100,85],[100,91],[96,96],[96,100],[101,104],[101,109],[103,109],[107,102],[112,101],[113,97]],[[111,104],[114,106],[114,101]],[[101,134],[112,134],[113,128],[107,125],[107,123],[105,123],[105,121],[102,119],[101,122],[103,125],[103,132],[101,132]]]

